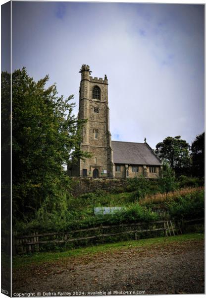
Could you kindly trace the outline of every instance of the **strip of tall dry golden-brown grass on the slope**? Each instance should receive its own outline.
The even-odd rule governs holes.
[[[147,204],[147,203],[162,203],[164,201],[171,201],[171,200],[174,200],[175,198],[177,198],[179,196],[189,195],[189,194],[192,194],[194,192],[203,191],[204,189],[205,189],[204,186],[201,186],[201,187],[186,187],[186,188],[182,188],[182,189],[177,190],[177,191],[171,191],[168,194],[158,193],[156,195],[146,196],[141,201],[141,204],[143,205],[143,204]]]

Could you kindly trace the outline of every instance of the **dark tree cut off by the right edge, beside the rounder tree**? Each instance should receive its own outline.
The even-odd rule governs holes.
[[[191,145],[192,172],[194,176],[205,176],[205,133],[196,137]]]

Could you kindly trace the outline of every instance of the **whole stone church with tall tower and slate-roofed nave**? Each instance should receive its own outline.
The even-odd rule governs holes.
[[[81,132],[80,149],[92,154],[69,169],[74,177],[146,178],[162,176],[162,164],[146,143],[111,141],[109,131],[108,80],[92,77],[82,65],[78,119],[87,119]]]

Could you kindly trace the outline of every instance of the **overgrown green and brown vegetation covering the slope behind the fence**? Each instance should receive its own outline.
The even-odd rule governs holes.
[[[155,192],[155,188],[154,188]],[[121,211],[107,215],[95,215],[94,207],[125,206]],[[158,212],[159,211],[159,212]],[[160,212],[180,220],[204,217],[204,188],[185,188],[168,194],[137,196],[137,191],[121,194],[105,192],[89,193],[79,198],[70,198],[68,210],[62,216],[57,212],[38,213],[30,223],[18,223],[20,233],[37,231],[69,231],[99,225],[133,222],[151,222],[160,218]]]

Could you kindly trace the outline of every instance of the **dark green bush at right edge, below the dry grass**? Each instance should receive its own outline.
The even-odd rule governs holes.
[[[186,196],[179,196],[176,201],[169,202],[168,210],[173,219],[197,219],[205,217],[204,191]]]

